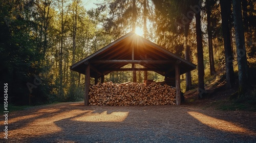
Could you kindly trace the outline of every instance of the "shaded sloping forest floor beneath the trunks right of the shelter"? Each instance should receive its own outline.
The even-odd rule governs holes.
[[[238,85],[235,85],[238,86]],[[243,110],[256,112],[256,83],[251,85],[244,96],[237,97],[237,88],[226,89],[225,81],[217,81],[205,87],[206,96],[200,100],[197,89],[185,92],[183,105],[217,110]]]

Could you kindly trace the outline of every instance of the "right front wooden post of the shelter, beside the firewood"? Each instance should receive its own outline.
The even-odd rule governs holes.
[[[181,93],[180,93],[180,61],[178,60],[175,64],[175,81],[176,81],[176,104],[181,104]]]

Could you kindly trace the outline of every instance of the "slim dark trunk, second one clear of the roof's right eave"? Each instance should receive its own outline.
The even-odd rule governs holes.
[[[212,32],[211,32],[211,7],[208,4],[207,8],[207,32],[208,32],[208,45],[209,45],[209,63],[210,63],[210,75],[215,75],[215,66],[214,66],[214,50],[212,47]]]

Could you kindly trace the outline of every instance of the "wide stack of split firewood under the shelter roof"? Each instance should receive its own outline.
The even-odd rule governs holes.
[[[105,82],[90,86],[90,105],[175,105],[176,88],[155,82],[114,84]]]

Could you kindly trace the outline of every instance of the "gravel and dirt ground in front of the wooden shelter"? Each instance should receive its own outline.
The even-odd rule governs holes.
[[[9,113],[8,140],[0,142],[256,142],[255,118],[189,105],[59,103]]]

